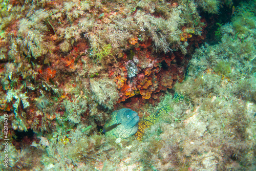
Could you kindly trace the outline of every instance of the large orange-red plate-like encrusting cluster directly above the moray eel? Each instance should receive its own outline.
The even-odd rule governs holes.
[[[150,42],[151,41],[148,41],[148,44],[151,44]],[[141,44],[139,46],[142,47]],[[125,101],[135,95],[141,95],[136,96],[131,100],[137,98],[144,102],[147,100],[147,102],[154,103],[154,101],[158,100],[158,97],[162,95],[164,91],[172,88],[175,81],[181,81],[183,79],[184,68],[178,68],[175,64],[176,61],[174,60],[182,60],[184,55],[179,53],[163,54],[161,58],[158,58],[155,55],[152,55],[148,49],[136,51],[135,53],[142,62],[140,63],[141,66],[138,66],[141,70],[132,79],[126,79],[127,70],[121,63],[119,63],[119,72],[122,74],[119,74],[115,78],[115,82],[120,91],[120,98],[118,102]],[[124,56],[125,57],[123,57],[123,59],[127,60],[125,53]],[[166,62],[167,66],[165,67],[168,69],[159,67],[159,63],[162,61]],[[110,72],[110,75],[113,75],[113,72],[114,70]],[[115,71],[115,73],[117,72]],[[130,103],[131,102],[127,102],[125,104],[128,106]]]

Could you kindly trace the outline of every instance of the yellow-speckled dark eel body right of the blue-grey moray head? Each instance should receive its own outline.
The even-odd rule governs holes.
[[[171,110],[170,106],[168,104],[165,104],[155,114],[152,114],[146,118],[140,119],[138,131],[135,134],[137,139],[138,140],[142,139],[145,129],[156,123],[157,119],[161,116],[162,111],[169,112],[170,110]]]

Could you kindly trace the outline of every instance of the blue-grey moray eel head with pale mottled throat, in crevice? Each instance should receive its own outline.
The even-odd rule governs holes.
[[[138,131],[139,116],[131,109],[120,109],[111,114],[111,120],[105,123],[103,132],[106,136],[129,138]]]

